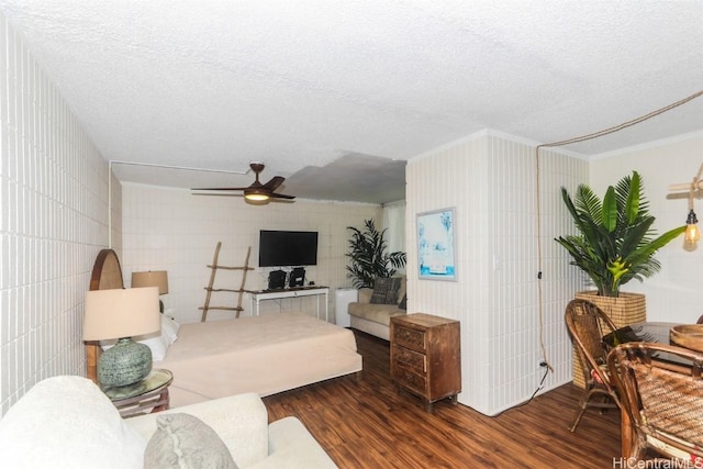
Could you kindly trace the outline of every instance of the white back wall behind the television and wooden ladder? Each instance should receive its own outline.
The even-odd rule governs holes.
[[[349,287],[346,278],[347,226],[361,227],[364,220],[375,219],[380,226],[381,208],[373,204],[314,202],[250,205],[241,197],[193,196],[188,190],[153,186],[123,187],[122,268],[129,283],[133,271],[167,270],[169,293],[164,295],[166,309],[178,321],[200,321],[205,300],[203,288],[210,280],[215,245],[222,242],[219,264],[242,266],[247,246],[252,247],[249,266],[255,267],[246,280],[246,289],[266,288],[268,272],[258,268],[259,230],[316,231],[317,266],[308,267],[305,276],[315,284],[331,288],[330,321],[334,322],[334,291]],[[217,270],[215,287],[238,288],[239,271]],[[321,303],[321,314],[324,310]],[[211,305],[235,305],[236,293],[214,293]],[[243,299],[250,315],[248,295]],[[261,313],[276,311],[315,311],[312,298],[261,302]],[[210,311],[208,320],[232,317],[233,313]]]

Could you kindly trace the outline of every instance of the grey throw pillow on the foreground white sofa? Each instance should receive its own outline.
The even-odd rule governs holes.
[[[145,469],[236,469],[230,450],[214,429],[190,414],[156,418],[156,432],[144,451]]]

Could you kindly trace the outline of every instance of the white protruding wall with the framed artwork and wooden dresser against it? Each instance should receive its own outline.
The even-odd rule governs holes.
[[[563,306],[579,288],[553,241],[571,230],[559,188],[588,180],[588,164],[542,152],[543,297],[538,294],[534,147],[481,133],[411,160],[408,166],[409,313],[461,322],[459,401],[487,414],[517,404],[537,389],[539,303],[547,359],[546,387],[570,380]],[[456,209],[457,281],[419,280],[415,215]]]

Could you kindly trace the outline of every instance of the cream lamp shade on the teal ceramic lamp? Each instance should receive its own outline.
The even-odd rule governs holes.
[[[83,340],[107,340],[160,331],[158,288],[93,290],[86,294]]]

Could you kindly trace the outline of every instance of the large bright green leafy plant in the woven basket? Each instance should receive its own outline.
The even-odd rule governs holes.
[[[655,216],[649,214],[637,171],[614,188],[610,186],[602,201],[587,185],[578,187],[573,201],[565,188],[561,197],[580,234],[555,241],[569,252],[570,264],[583,270],[603,297],[618,297],[621,286],[658,272],[661,265],[655,253],[685,230],[679,226],[655,237]]]

